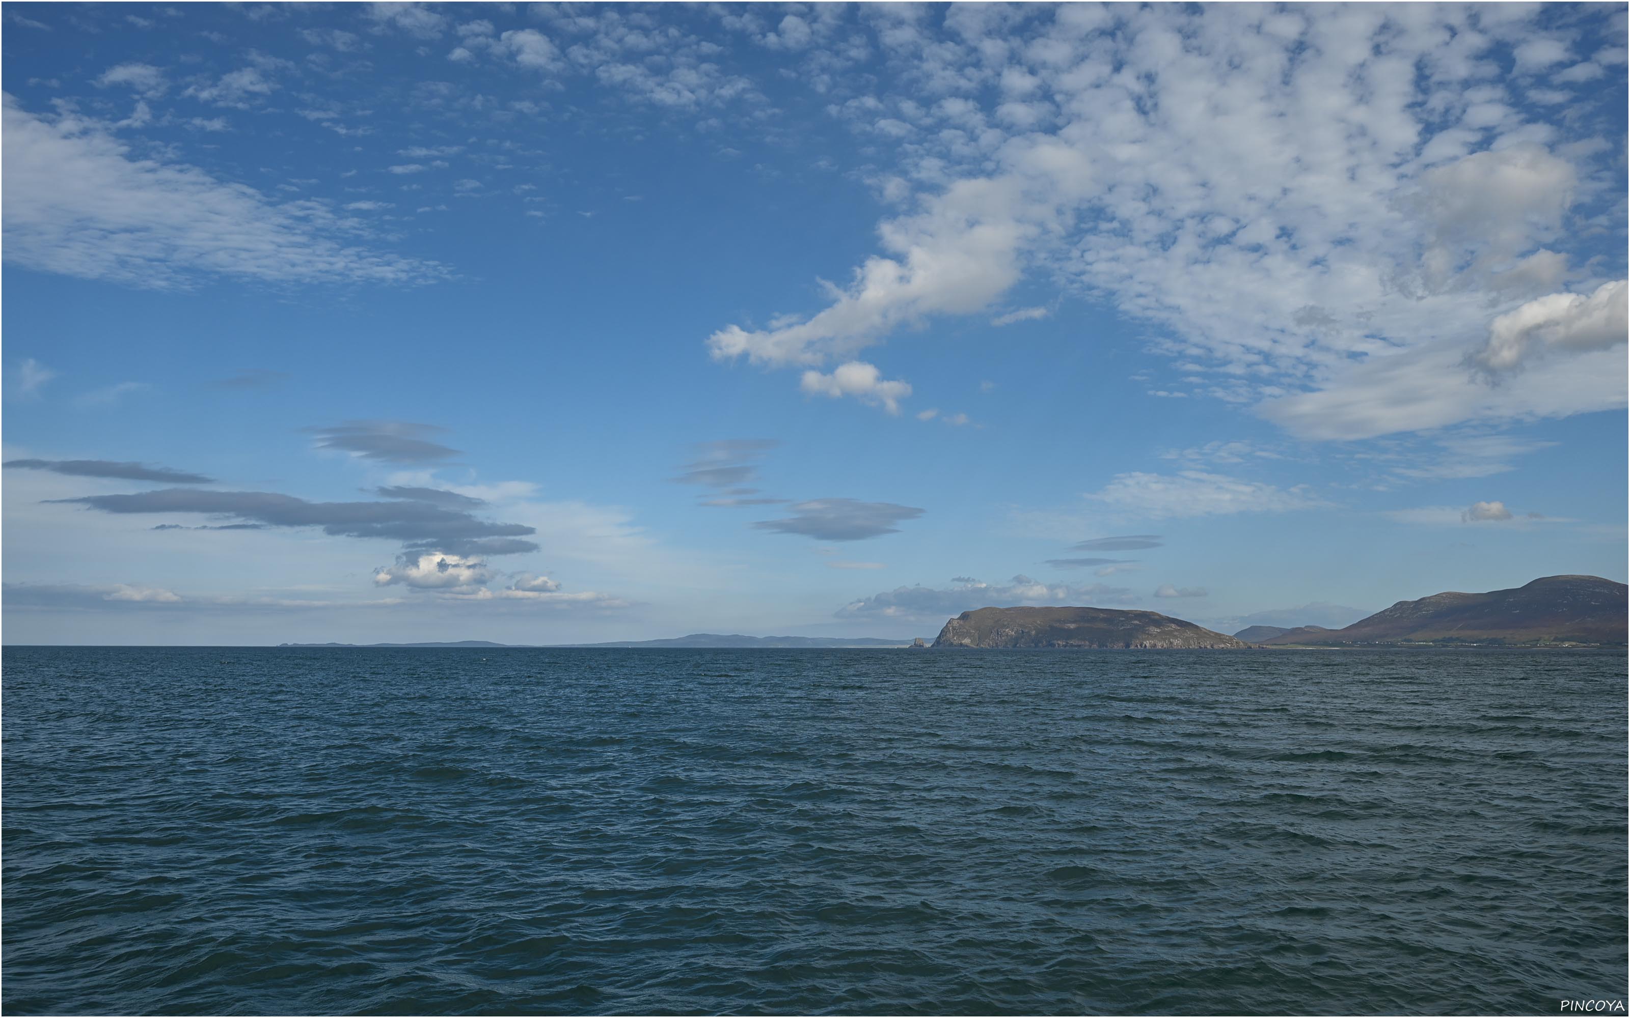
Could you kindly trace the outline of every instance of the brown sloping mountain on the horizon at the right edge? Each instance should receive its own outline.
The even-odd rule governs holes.
[[[1260,640],[1288,643],[1623,643],[1623,583],[1601,577],[1542,577],[1482,595],[1446,591],[1399,601],[1346,629],[1304,625]]]

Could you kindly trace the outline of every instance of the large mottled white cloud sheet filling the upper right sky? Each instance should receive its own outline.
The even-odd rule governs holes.
[[[1112,305],[1156,352],[1216,376],[1187,396],[1255,404],[1299,435],[1604,406],[1604,363],[1465,388],[1490,321],[1584,261],[1594,241],[1570,217],[1612,179],[1615,156],[1575,143],[1594,127],[1531,122],[1498,80],[1506,46],[1531,70],[1566,55],[1532,11],[1112,7],[1084,28],[1079,10],[986,24],[952,8],[939,33],[923,11],[867,8],[895,83],[830,112],[857,134],[913,125],[900,165],[872,176],[918,194],[893,194],[910,212],[879,225],[879,251],[826,287],[825,308],[725,326],[712,357],[849,360],[934,316],[986,311],[1029,274]],[[1045,109],[996,125],[1020,96]],[[1372,375],[1405,366],[1425,401],[1399,412]],[[1575,386],[1591,393],[1581,406],[1552,397]]]

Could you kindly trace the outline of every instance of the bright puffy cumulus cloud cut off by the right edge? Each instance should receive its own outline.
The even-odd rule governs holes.
[[[1545,353],[1607,350],[1625,342],[1630,282],[1602,283],[1589,296],[1552,293],[1508,311],[1488,326],[1488,342],[1470,362],[1488,371],[1511,371]]]

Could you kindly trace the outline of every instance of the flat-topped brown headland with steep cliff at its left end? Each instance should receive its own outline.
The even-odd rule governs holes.
[[[1229,648],[1245,643],[1154,611],[981,608],[945,622],[934,647],[1108,650]]]

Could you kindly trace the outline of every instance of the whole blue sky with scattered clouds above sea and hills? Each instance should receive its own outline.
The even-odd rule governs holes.
[[[1625,580],[1625,5],[7,3],[3,638]]]

